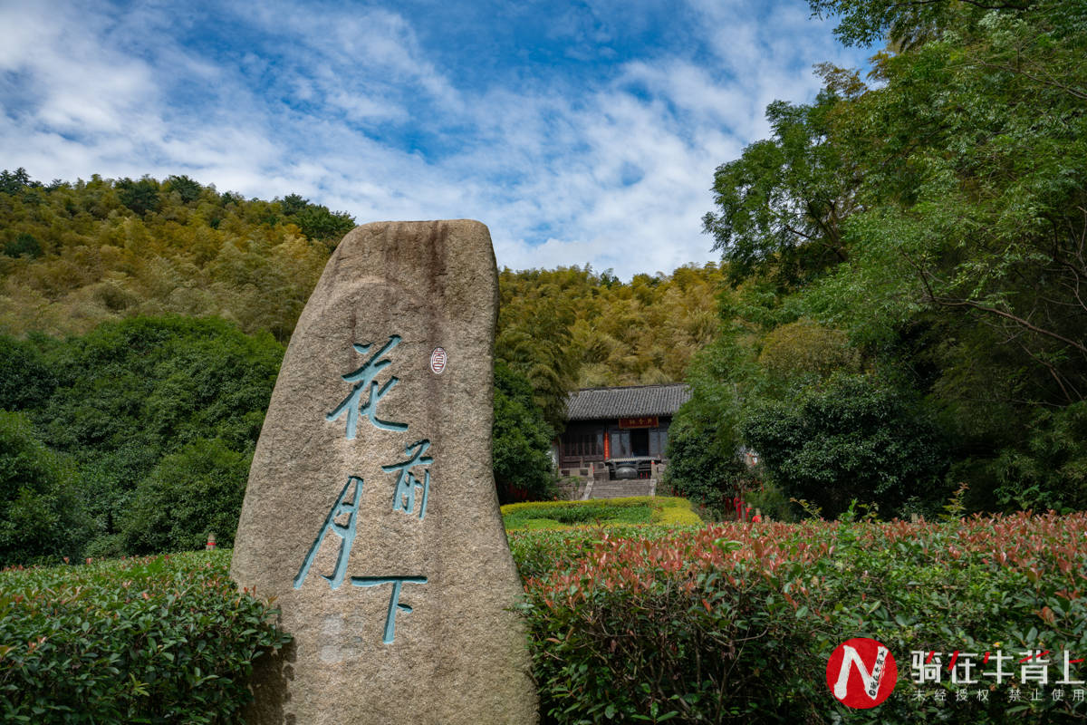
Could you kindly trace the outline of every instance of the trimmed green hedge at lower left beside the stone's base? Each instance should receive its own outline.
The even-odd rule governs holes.
[[[229,552],[0,572],[4,723],[230,723],[290,638]]]

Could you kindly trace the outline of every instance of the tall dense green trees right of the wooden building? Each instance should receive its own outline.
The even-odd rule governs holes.
[[[869,85],[820,66],[814,102],[771,104],[771,137],[717,170],[704,223],[732,289],[675,471],[724,480],[710,464],[747,446],[837,510],[932,511],[961,483],[973,510],[1087,507],[1087,5],[811,4],[888,45]],[[842,376],[896,411],[794,426]],[[923,470],[894,463],[909,450]],[[858,480],[865,461],[898,483]]]

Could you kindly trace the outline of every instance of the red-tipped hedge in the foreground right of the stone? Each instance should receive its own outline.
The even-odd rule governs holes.
[[[1063,652],[1087,651],[1085,528],[1082,513],[1016,514],[521,529],[510,540],[546,723],[1040,723],[1087,717],[1087,703],[1073,686],[1032,699],[1017,665],[991,689],[991,677],[957,686],[945,670],[955,651],[974,653],[980,680],[994,668],[986,652],[1019,662],[1049,650],[1054,687]],[[827,660],[853,637],[898,662],[894,695],[873,710],[827,689]],[[914,680],[913,652],[935,652],[937,682]]]

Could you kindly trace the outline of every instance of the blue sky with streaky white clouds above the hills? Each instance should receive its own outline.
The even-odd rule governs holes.
[[[807,2],[0,0],[0,166],[188,174],[359,223],[477,218],[499,265],[716,259],[713,170],[863,66]]]

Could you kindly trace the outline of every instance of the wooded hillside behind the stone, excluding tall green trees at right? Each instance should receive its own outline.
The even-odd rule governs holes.
[[[185,176],[0,174],[0,562],[229,543],[295,323],[354,225]],[[500,275],[495,475],[546,496],[578,385],[682,378],[715,265]]]

